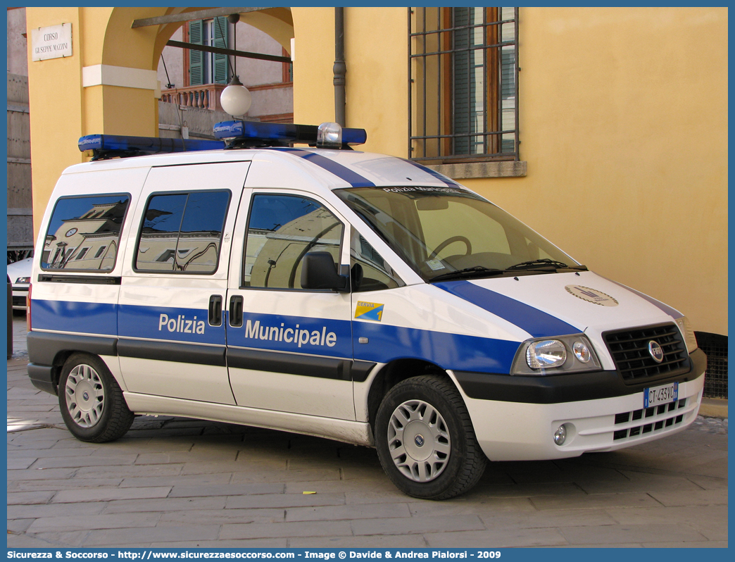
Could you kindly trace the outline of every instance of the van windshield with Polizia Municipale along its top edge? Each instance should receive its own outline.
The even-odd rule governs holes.
[[[462,188],[334,191],[423,280],[585,269],[494,204]]]

